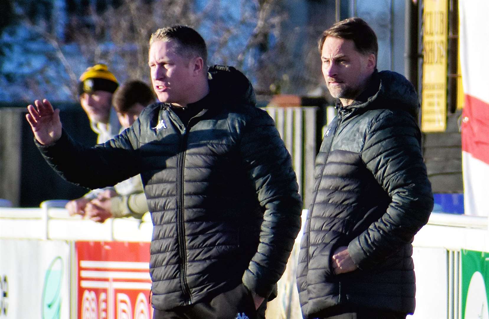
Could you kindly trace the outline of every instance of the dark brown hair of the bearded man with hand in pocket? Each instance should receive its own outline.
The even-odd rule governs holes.
[[[358,52],[364,55],[373,53],[377,63],[377,36],[374,30],[362,19],[355,17],[334,23],[321,35],[319,39],[319,52],[322,51],[327,37],[352,40]]]

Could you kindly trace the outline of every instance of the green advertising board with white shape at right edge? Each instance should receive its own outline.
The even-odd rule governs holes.
[[[488,319],[489,252],[461,251],[462,318]]]

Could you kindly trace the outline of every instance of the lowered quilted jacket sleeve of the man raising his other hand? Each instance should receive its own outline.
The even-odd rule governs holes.
[[[265,111],[256,109],[246,123],[240,152],[264,209],[258,251],[243,283],[267,298],[285,271],[301,226],[302,201],[289,152]]]

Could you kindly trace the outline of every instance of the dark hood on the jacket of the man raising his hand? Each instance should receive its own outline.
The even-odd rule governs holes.
[[[209,67],[209,87],[226,104],[256,106],[256,96],[248,78],[236,68],[214,65]]]

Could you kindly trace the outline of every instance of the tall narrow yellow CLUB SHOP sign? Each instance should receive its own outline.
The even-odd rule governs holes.
[[[447,0],[424,1],[421,107],[423,132],[446,130],[447,13]]]

